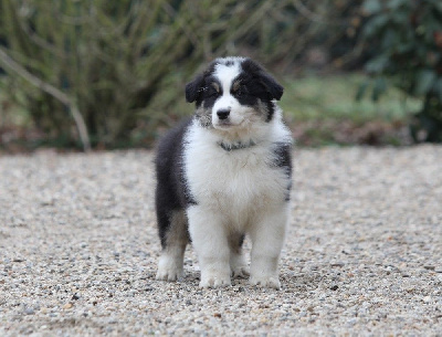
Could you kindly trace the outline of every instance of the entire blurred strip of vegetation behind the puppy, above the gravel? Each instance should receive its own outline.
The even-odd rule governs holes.
[[[224,55],[280,78],[298,144],[442,141],[440,0],[1,0],[0,146],[149,147]]]

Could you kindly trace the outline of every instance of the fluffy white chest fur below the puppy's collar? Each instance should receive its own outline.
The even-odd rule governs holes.
[[[210,130],[192,125],[187,134],[185,171],[188,188],[197,203],[211,212],[221,212],[227,222],[244,228],[285,202],[288,177],[272,165],[272,146],[283,133],[261,139],[256,145],[227,151]]]

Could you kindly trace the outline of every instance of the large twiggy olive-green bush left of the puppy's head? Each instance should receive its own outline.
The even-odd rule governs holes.
[[[93,146],[146,138],[177,99],[170,87],[182,84],[194,62],[186,60],[190,39],[180,22],[189,10],[166,13],[162,6],[166,1],[6,1],[1,20],[11,59],[25,69],[24,80],[35,76],[43,88],[10,76],[9,94],[36,127],[65,139],[65,146],[78,143],[81,128],[73,127],[78,123]],[[171,24],[175,17],[180,18]],[[80,122],[70,118],[75,110]]]

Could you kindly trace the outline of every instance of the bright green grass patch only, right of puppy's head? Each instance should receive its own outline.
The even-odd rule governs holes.
[[[359,125],[371,120],[404,120],[407,112],[422,107],[421,99],[404,99],[404,94],[397,88],[375,103],[368,97],[355,101],[356,88],[366,80],[366,75],[358,73],[287,78],[284,84],[290,94],[280,105],[287,117],[293,116],[297,122],[334,119]]]

